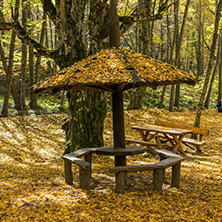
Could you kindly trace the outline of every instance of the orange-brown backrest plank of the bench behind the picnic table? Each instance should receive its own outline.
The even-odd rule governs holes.
[[[165,122],[161,120],[156,120],[155,124],[158,126],[166,126],[166,127],[172,127],[172,128],[180,128],[180,129],[189,129],[193,130],[194,134],[201,134],[201,135],[209,135],[209,130],[193,127],[193,126],[183,126],[181,124],[177,123],[170,123],[170,122]]]

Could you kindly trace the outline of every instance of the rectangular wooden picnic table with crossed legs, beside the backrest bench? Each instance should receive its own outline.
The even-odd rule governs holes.
[[[163,149],[160,137],[164,138],[165,142],[171,144],[171,149],[173,152],[177,153],[180,151],[184,154],[182,148],[182,140],[186,134],[193,133],[193,130],[190,129],[178,129],[163,127],[157,125],[147,125],[147,126],[131,126],[132,129],[139,132],[143,141],[149,142],[152,139],[156,140],[156,146],[159,149]]]

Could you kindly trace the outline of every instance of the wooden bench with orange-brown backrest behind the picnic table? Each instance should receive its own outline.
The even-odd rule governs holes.
[[[209,135],[209,130],[206,130],[206,129],[201,129],[201,128],[193,127],[193,126],[184,126],[181,124],[165,122],[165,121],[161,121],[161,120],[156,120],[155,125],[171,127],[171,128],[178,128],[178,129],[192,130],[193,132],[192,132],[191,136],[196,135],[197,139],[184,137],[182,139],[182,143],[184,145],[186,145],[187,147],[196,150],[196,152],[201,152],[200,146],[202,146],[206,143],[206,141],[202,140],[203,135]]]

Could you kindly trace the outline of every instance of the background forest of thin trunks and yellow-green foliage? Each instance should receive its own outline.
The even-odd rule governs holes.
[[[67,108],[64,92],[56,97],[41,94],[37,98],[37,95],[30,90],[34,83],[63,68],[53,56],[45,55],[46,51],[44,51],[44,49],[49,49],[51,52],[56,50],[62,38],[58,36],[55,23],[43,7],[47,2],[50,1],[0,1],[2,18],[0,109],[2,116],[22,115],[27,114],[27,111],[29,113],[58,112]],[[58,2],[55,1],[55,4],[59,5]],[[62,2],[58,7],[62,7]],[[65,1],[64,4],[66,4]],[[82,41],[87,51],[85,55],[96,52],[96,48],[107,47],[106,33],[102,30],[104,27],[97,28],[100,32],[98,32],[99,36],[96,36],[90,26],[93,13],[99,10],[99,7],[105,10],[104,5],[108,7],[108,2],[94,0],[85,4],[85,14],[82,15],[84,31]],[[195,87],[183,85],[176,86],[176,89],[168,86],[159,87],[155,91],[151,88],[129,91],[125,95],[125,105],[128,109],[155,107],[169,111],[196,110],[212,50],[217,5],[217,1],[209,0],[119,1],[118,13],[123,47],[148,54],[202,77]],[[103,21],[96,19],[97,26],[106,24],[105,16],[100,18]],[[18,21],[22,26],[22,31],[25,31],[35,42],[30,44],[30,40],[25,39],[24,33],[19,31],[19,27],[15,28],[13,26],[15,22],[12,21]],[[204,103],[206,108],[214,108],[217,100],[221,98],[220,32],[219,29],[217,48],[213,58],[214,67],[211,70],[211,79],[207,86],[208,91]],[[101,35],[104,36],[101,37]],[[97,41],[96,46],[95,41]],[[36,44],[39,45],[36,46]],[[74,58],[71,62],[78,59],[81,58]]]

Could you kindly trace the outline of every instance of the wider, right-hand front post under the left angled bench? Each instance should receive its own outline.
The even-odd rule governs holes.
[[[90,190],[91,167],[79,167],[79,185],[81,189]]]

